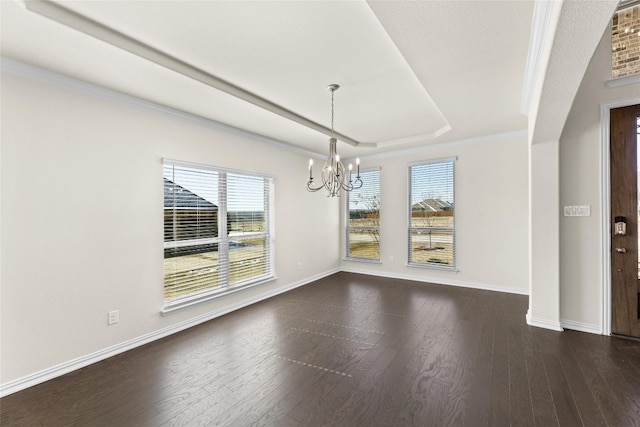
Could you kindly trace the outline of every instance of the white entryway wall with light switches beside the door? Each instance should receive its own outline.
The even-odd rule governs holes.
[[[600,106],[640,97],[640,83],[609,88],[611,34],[600,41],[560,139],[560,205],[591,205],[589,217],[560,218],[560,318],[563,326],[602,330]],[[608,147],[608,146],[607,146]],[[559,213],[560,214],[560,213]]]

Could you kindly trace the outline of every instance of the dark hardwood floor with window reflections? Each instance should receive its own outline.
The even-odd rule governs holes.
[[[339,273],[0,400],[2,426],[639,426],[640,343]]]

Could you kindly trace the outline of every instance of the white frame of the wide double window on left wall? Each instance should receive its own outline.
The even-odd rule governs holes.
[[[163,178],[164,171],[167,167],[179,167],[179,168],[189,168],[193,170],[199,170],[203,172],[215,172],[218,176],[217,178],[217,193],[218,193],[218,215],[217,215],[217,233],[216,237],[212,238],[203,238],[203,239],[192,239],[192,240],[176,240],[176,241],[166,241],[164,236],[166,236],[166,231],[163,236],[164,248],[168,247],[180,247],[187,246],[193,244],[217,244],[218,251],[218,271],[219,271],[219,281],[216,288],[204,289],[201,292],[197,292],[194,294],[186,295],[176,299],[167,299],[164,296],[164,289],[166,286],[166,277],[165,274],[162,274],[162,289],[163,289],[163,309],[161,311],[162,315],[171,313],[176,310],[183,309],[185,307],[192,306],[194,304],[199,304],[202,302],[210,301],[216,298],[220,298],[225,295],[229,295],[234,292],[238,292],[253,286],[262,285],[264,283],[271,282],[276,279],[275,275],[275,179],[273,176],[262,173],[255,173],[250,171],[242,171],[236,169],[223,168],[213,165],[207,164],[199,164],[199,163],[191,163],[180,160],[173,160],[168,158],[162,159],[162,169],[163,169]],[[240,177],[250,177],[250,178],[261,178],[263,179],[263,188],[264,188],[264,231],[262,232],[252,232],[250,235],[231,235],[228,232],[229,226],[229,212],[227,201],[229,198],[228,194],[228,176],[229,175],[238,175]],[[178,184],[179,185],[179,184]],[[164,195],[163,195],[164,198]],[[164,206],[164,204],[163,204]],[[165,214],[166,208],[163,207],[163,215]],[[224,218],[224,220],[222,220]],[[164,221],[164,220],[163,220]],[[229,281],[229,272],[230,272],[230,261],[229,261],[229,253],[231,242],[242,242],[243,240],[248,239],[264,239],[264,248],[265,248],[265,272],[264,274],[251,277],[250,279],[240,281],[238,283],[230,283]],[[163,265],[165,263],[166,257],[163,256]]]

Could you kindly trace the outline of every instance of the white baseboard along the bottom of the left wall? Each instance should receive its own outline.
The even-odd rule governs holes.
[[[52,366],[51,368],[44,369],[40,372],[36,372],[31,375],[27,375],[22,378],[18,378],[13,381],[9,381],[0,385],[0,397],[8,396],[12,393],[16,393],[18,391],[24,390],[26,388],[32,387],[34,385],[43,383],[45,381],[51,380],[53,378],[62,376],[64,374],[68,374],[69,372],[73,372],[80,368],[84,368],[85,366],[89,366],[93,363],[100,362],[101,360],[107,359],[112,356],[116,356],[118,354],[124,353],[126,351],[132,350],[136,347],[140,347],[142,345],[148,344],[150,342],[159,340],[161,338],[167,337],[169,335],[175,334],[177,332],[183,331],[185,329],[191,328],[193,326],[199,325],[201,323],[207,322],[209,320],[215,319],[216,317],[220,317],[227,313],[230,313],[235,310],[239,310],[243,307],[247,307],[251,304],[255,304],[257,302],[263,301],[265,299],[274,297],[276,295],[280,295],[284,292],[288,292],[292,289],[298,288],[300,286],[307,285],[316,280],[320,280],[324,277],[330,276],[339,272],[339,268],[335,268],[329,271],[325,271],[323,273],[317,274],[312,277],[307,277],[305,279],[299,280],[287,286],[282,286],[280,288],[263,292],[261,294],[255,295],[250,298],[246,298],[242,301],[239,301],[235,304],[227,305],[225,307],[219,308],[217,310],[211,311],[209,313],[202,314],[200,316],[196,316],[192,319],[185,320],[183,322],[177,323],[175,325],[139,336],[137,338],[124,341],[120,344],[113,345],[111,347],[107,347],[105,349],[96,351],[91,354],[87,354],[86,356],[79,357],[77,359],[70,360],[65,363],[61,363],[56,366]]]

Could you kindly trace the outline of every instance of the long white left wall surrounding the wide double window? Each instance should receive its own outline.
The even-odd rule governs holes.
[[[338,201],[305,190],[305,156],[13,74],[1,84],[2,385],[339,268],[326,238]],[[276,281],[161,317],[163,157],[275,176]]]

